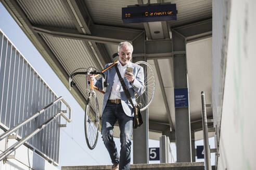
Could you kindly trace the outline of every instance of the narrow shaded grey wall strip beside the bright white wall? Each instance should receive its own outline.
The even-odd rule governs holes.
[[[212,111],[219,143],[230,1],[212,1]]]

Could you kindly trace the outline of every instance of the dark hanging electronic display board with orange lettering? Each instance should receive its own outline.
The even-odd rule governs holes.
[[[176,4],[150,4],[122,8],[123,23],[177,20]]]

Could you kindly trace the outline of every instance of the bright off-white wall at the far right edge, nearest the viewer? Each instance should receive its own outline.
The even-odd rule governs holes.
[[[217,169],[256,168],[255,7],[255,0],[236,0],[230,6],[226,66],[219,66],[225,70],[225,76]],[[215,111],[218,118],[219,113]]]

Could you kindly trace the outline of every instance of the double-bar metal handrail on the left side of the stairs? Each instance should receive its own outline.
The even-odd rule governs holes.
[[[22,138],[20,141],[18,141],[17,143],[15,143],[14,145],[12,145],[10,148],[8,148],[7,150],[5,150],[3,153],[0,154],[0,161],[2,161],[4,158],[6,158],[11,152],[15,151],[18,147],[20,147],[22,144],[24,144],[28,139],[30,139],[31,137],[33,137],[36,133],[40,132],[47,124],[49,124],[50,122],[52,122],[54,119],[56,119],[58,116],[62,116],[64,119],[66,119],[68,122],[71,122],[71,107],[67,104],[67,102],[63,99],[62,96],[60,96],[59,98],[57,98],[55,101],[53,101],[52,103],[48,104],[47,106],[45,106],[43,109],[41,109],[40,111],[36,112],[33,116],[31,116],[28,119],[25,119],[24,121],[22,121],[21,123],[19,123],[18,125],[16,125],[14,128],[6,131],[5,133],[3,133],[0,136],[0,141],[7,137],[9,134],[11,134],[12,132],[15,132],[16,130],[18,130],[20,127],[22,127],[24,124],[28,123],[30,120],[32,120],[33,118],[39,116],[42,114],[42,112],[46,111],[49,107],[53,106],[54,104],[56,104],[59,101],[62,101],[67,108],[69,109],[69,118],[66,117],[66,115],[63,114],[62,111],[58,112],[56,115],[54,115],[52,118],[48,119],[47,121],[45,121],[41,126],[37,127],[36,130],[34,130],[33,132],[31,132],[29,135],[25,136],[24,138]]]

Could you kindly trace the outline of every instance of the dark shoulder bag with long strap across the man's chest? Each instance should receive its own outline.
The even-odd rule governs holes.
[[[123,90],[125,92],[126,97],[128,98],[129,102],[131,103],[131,105],[133,106],[133,113],[134,113],[134,117],[133,117],[133,129],[136,129],[137,127],[139,127],[140,125],[143,124],[143,119],[142,119],[142,115],[140,114],[140,109],[139,106],[136,105],[134,106],[131,95],[127,89],[127,87],[125,86],[124,80],[119,72],[119,69],[117,67],[117,64],[115,65],[116,68],[116,72],[118,74],[119,80],[122,84]]]

